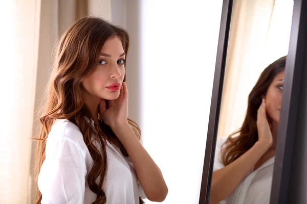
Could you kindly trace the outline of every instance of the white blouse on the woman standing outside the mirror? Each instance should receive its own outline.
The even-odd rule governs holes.
[[[93,120],[91,123],[94,126]],[[106,203],[139,204],[139,197],[147,198],[130,158],[109,142],[106,154],[108,168],[103,184]],[[92,166],[93,159],[78,126],[67,119],[57,120],[48,135],[46,159],[38,175],[41,203],[92,203],[96,194],[86,179]]]

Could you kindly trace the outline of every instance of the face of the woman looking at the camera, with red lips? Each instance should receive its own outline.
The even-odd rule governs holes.
[[[82,81],[85,97],[90,101],[118,98],[125,77],[124,61],[125,52],[120,38],[108,38],[101,48],[96,70]]]

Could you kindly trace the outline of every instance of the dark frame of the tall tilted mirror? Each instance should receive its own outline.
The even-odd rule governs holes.
[[[209,203],[210,197],[232,4],[233,0],[223,1],[201,182],[200,204]],[[297,113],[299,107],[300,84],[302,81],[301,76],[305,53],[307,53],[307,1],[294,0],[291,35],[284,76],[284,89],[271,187],[271,204],[283,204],[287,202],[290,170],[293,159],[292,150],[295,140],[295,124],[298,119]]]

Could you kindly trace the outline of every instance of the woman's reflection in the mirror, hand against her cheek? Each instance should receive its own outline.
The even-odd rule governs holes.
[[[270,202],[285,65],[282,57],[261,73],[242,127],[217,141],[210,203]]]

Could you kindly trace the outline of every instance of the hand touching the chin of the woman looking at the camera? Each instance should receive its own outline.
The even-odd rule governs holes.
[[[128,124],[128,89],[126,83],[122,83],[117,99],[108,100],[108,109],[106,109],[106,101],[103,98],[100,100],[99,109],[101,118],[113,131]]]

